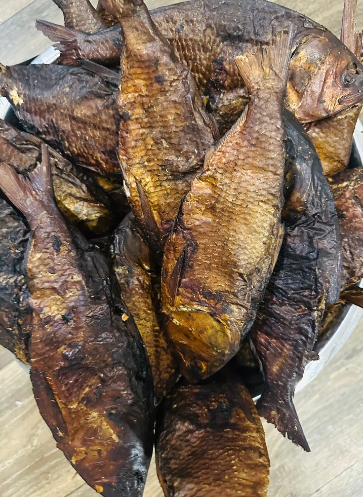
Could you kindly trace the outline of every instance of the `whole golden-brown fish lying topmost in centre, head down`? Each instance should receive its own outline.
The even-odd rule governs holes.
[[[270,45],[236,58],[251,95],[248,110],[207,152],[165,247],[166,330],[190,381],[237,353],[280,248],[292,36],[280,31]]]

